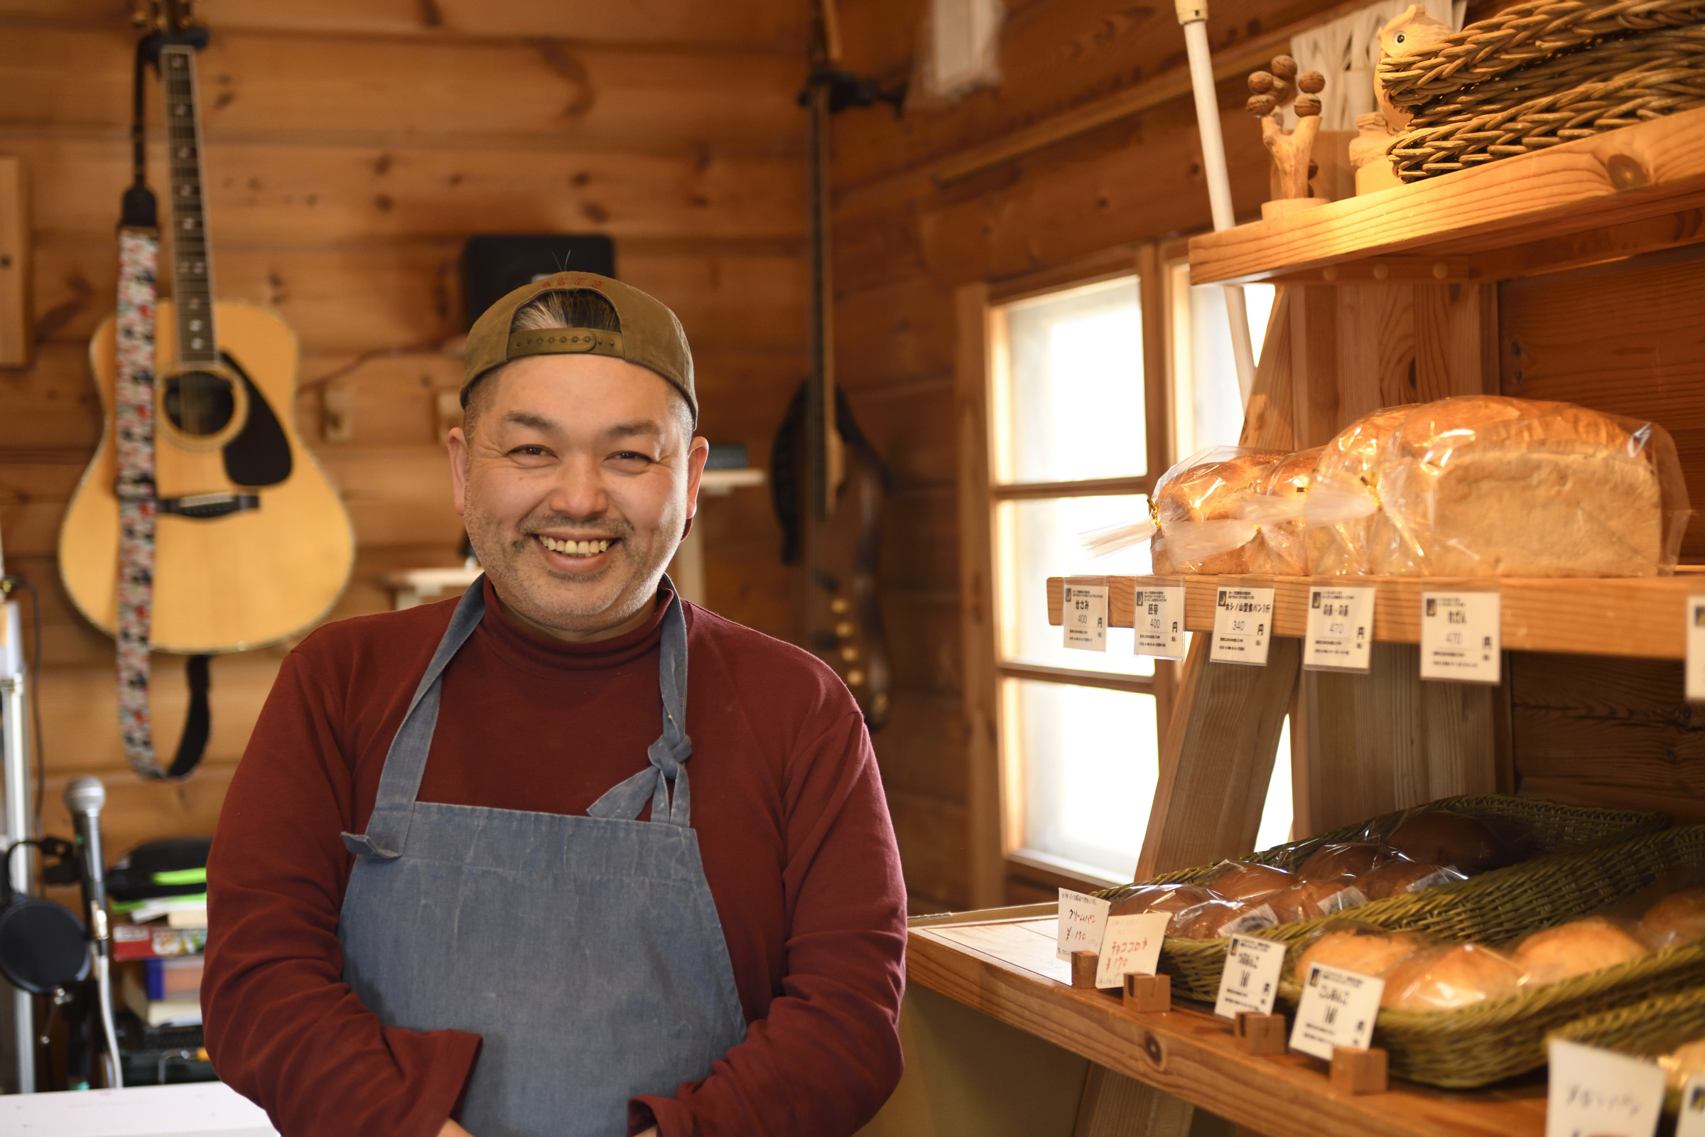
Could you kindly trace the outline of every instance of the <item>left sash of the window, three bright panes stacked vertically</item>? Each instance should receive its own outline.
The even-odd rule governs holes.
[[[1021,297],[991,312],[996,675],[1008,846],[1091,880],[1130,880],[1159,764],[1154,661],[1112,629],[1067,651],[1042,581],[1078,568],[1078,534],[1147,511],[1166,467],[1141,273]],[[1096,573],[1146,571],[1147,552]]]

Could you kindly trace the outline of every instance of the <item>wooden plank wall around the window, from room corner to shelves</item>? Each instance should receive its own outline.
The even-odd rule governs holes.
[[[1323,12],[1318,0],[1216,3],[1216,53]],[[909,78],[922,0],[844,0],[846,65]],[[1069,269],[1110,247],[1209,223],[1195,114],[1168,97],[1043,150],[948,184],[936,172],[1066,113],[1183,77],[1183,36],[1166,5],[1107,0],[1008,3],[1001,85],[948,107],[851,111],[835,121],[837,370],[866,433],[895,467],[883,610],[895,643],[893,724],[876,740],[917,910],[992,903],[974,895],[968,747],[960,718],[955,540],[955,288]],[[1188,84],[1175,87],[1188,90]],[[1219,102],[1240,213],[1267,189],[1241,75]],[[1069,280],[1069,273],[1064,280]],[[1134,803],[1144,811],[1147,803]],[[1030,898],[1020,881],[1008,895]],[[1052,898],[1052,893],[1045,893]]]

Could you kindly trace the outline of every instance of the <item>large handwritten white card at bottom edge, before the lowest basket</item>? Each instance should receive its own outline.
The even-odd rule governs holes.
[[[1552,1072],[1545,1137],[1652,1137],[1664,1111],[1664,1071],[1567,1038],[1546,1047]],[[1686,1101],[1681,1103],[1686,1117]],[[1678,1135],[1681,1128],[1678,1127]]]

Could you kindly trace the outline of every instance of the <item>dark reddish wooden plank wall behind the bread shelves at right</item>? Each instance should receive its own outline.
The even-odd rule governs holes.
[[[1705,249],[1506,281],[1504,394],[1652,421],[1676,440],[1693,520],[1685,561],[1705,561]],[[1662,660],[1511,656],[1511,747],[1523,794],[1705,822],[1705,721]]]

